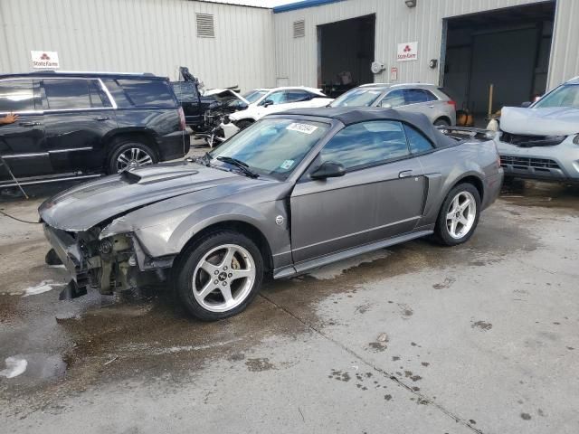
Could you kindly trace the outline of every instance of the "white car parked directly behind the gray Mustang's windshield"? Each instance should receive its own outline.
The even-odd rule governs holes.
[[[326,107],[333,101],[321,90],[305,86],[256,89],[243,95],[243,99],[249,102],[247,109],[229,115],[229,120],[240,129],[271,113],[306,107]]]

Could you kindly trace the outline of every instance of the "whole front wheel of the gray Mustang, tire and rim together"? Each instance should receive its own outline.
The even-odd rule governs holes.
[[[215,321],[242,312],[262,279],[263,259],[255,243],[235,231],[216,231],[185,251],[174,284],[189,313]]]

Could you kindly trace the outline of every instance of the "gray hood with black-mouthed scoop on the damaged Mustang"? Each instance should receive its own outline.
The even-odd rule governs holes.
[[[45,201],[38,212],[53,228],[87,231],[100,222],[179,195],[213,188],[218,197],[235,190],[228,184],[259,182],[186,161],[148,165],[72,187]]]

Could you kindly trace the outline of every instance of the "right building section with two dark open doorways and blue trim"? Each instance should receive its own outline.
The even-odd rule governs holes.
[[[274,20],[278,83],[321,86],[342,71],[357,84],[430,82],[481,113],[489,84],[498,109],[579,75],[577,0],[309,0]],[[400,61],[408,48],[416,59]]]

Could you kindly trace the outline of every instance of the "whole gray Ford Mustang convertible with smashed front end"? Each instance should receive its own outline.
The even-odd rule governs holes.
[[[196,161],[149,165],[39,209],[69,297],[170,280],[196,317],[239,313],[287,278],[432,235],[469,240],[502,183],[485,132],[393,109],[294,109]]]

